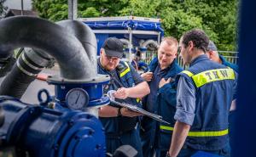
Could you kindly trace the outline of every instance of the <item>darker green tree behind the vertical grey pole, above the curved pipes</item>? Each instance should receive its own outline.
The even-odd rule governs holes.
[[[78,1],[79,17],[119,16],[119,10],[125,7],[120,0]],[[32,6],[39,16],[53,21],[67,19],[67,0],[32,0]]]

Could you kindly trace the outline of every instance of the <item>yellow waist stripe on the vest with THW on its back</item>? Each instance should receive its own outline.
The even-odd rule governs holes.
[[[221,137],[227,135],[229,133],[229,129],[218,132],[189,132],[189,137]]]

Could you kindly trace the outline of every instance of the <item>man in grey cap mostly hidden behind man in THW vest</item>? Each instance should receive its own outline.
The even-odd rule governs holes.
[[[231,69],[235,70],[238,73],[238,66],[236,64],[231,64],[228,62],[224,57],[220,54],[218,54],[218,49],[214,42],[210,41],[209,45],[207,47],[207,56],[209,59],[211,59],[214,62],[217,62],[219,64],[224,64],[227,67],[230,67]],[[230,107],[230,116],[229,116],[229,123],[230,123],[230,146],[232,147],[233,143],[233,126],[235,124],[235,114],[236,114],[236,96],[234,97],[234,100],[232,101],[231,107]]]

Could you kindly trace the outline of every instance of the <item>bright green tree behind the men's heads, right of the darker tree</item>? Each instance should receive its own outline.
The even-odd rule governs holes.
[[[238,0],[124,0],[125,15],[159,17],[167,36],[179,37],[184,31],[201,28],[218,49],[235,51]]]

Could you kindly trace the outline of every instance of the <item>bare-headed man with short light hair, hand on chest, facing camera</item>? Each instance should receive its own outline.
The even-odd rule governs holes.
[[[175,124],[173,116],[176,111],[176,75],[182,71],[177,64],[177,39],[165,37],[160,43],[158,57],[149,64],[151,72],[142,76],[148,81],[150,93],[143,98],[143,106],[151,113],[161,115],[166,125],[143,117],[141,137],[143,141],[144,157],[166,156],[172,137],[172,128]],[[155,155],[154,155],[155,154]]]

